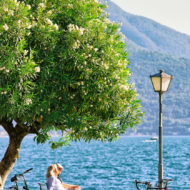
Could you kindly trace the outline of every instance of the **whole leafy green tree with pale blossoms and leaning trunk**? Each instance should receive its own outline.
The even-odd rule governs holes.
[[[0,125],[9,136],[0,189],[28,134],[56,148],[112,141],[140,122],[119,25],[104,9],[96,0],[0,2]]]

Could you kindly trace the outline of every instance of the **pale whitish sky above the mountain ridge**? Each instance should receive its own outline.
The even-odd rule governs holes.
[[[112,0],[126,12],[190,35],[190,0]]]

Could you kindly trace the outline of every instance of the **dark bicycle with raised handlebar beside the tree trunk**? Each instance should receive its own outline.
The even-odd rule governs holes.
[[[31,171],[33,168],[30,168],[26,171],[24,171],[23,173],[21,174],[16,174],[14,177],[11,178],[11,182],[14,182],[15,183],[15,186],[11,186],[9,187],[9,190],[19,190],[19,185],[18,185],[18,181],[20,178],[22,178],[23,182],[24,182],[24,186],[23,186],[23,189],[24,190],[29,190],[28,188],[28,185],[26,183],[26,179],[24,177],[24,174],[28,173],[29,171]]]

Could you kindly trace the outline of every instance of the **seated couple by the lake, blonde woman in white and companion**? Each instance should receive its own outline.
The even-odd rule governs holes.
[[[47,170],[47,186],[48,190],[80,190],[78,185],[65,184],[61,181],[59,175],[63,169],[61,164],[52,164]]]

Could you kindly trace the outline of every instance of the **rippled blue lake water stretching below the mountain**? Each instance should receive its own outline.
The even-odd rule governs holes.
[[[45,182],[47,167],[55,162],[64,166],[62,179],[78,184],[83,190],[135,190],[134,180],[151,181],[158,176],[158,142],[143,142],[148,137],[120,137],[113,143],[72,143],[51,150],[48,144],[36,145],[32,138],[24,139],[20,157],[10,177],[33,168],[25,175],[31,189]],[[0,138],[0,157],[8,138]],[[164,137],[164,178],[173,179],[170,190],[190,189],[190,137]]]

